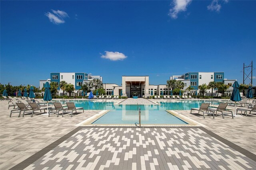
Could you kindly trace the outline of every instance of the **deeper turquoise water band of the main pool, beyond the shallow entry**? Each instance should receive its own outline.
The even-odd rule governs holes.
[[[144,111],[165,111],[165,110],[190,110],[191,108],[200,107],[204,101],[179,101],[179,102],[160,102],[160,105],[122,105],[114,104],[114,102],[92,102],[88,100],[71,100],[76,107],[83,107],[85,110],[138,110]],[[64,104],[64,103],[63,103]],[[215,102],[214,104],[219,104]]]

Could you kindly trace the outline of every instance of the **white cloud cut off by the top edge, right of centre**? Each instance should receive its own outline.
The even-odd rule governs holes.
[[[178,13],[187,10],[187,6],[192,0],[173,0],[174,6],[169,11],[169,16],[173,19],[178,18]]]

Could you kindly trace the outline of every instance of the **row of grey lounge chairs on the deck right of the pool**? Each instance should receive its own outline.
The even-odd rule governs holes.
[[[228,103],[220,103],[220,105],[218,105],[217,108],[209,108],[209,106],[210,106],[210,103],[202,103],[200,108],[191,108],[190,114],[192,114],[192,111],[198,111],[198,114],[202,112],[203,117],[205,119],[204,114],[213,115],[213,118],[214,118],[214,113],[217,116],[217,112],[221,112],[223,119],[224,119],[224,114],[228,114],[228,113],[231,113],[232,119],[234,118],[233,112],[227,109]],[[241,111],[241,115],[242,115],[242,112],[244,111],[247,117],[247,111],[249,111],[249,114],[251,114],[251,112],[256,112],[256,105],[254,105],[252,109],[238,108],[236,109],[236,114],[238,113],[238,111]]]

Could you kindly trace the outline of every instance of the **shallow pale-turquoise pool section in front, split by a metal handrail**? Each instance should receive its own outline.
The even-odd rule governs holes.
[[[134,124],[138,123],[138,111],[134,110],[112,110],[92,124]],[[141,124],[172,124],[186,125],[188,123],[178,119],[167,111],[143,110],[141,111]]]

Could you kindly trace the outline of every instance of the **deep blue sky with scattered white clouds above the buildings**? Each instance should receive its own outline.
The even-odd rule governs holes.
[[[224,71],[255,63],[256,1],[1,1],[0,83],[39,87],[50,72],[122,75]],[[255,63],[256,64],[256,63]],[[254,65],[255,65],[254,64]],[[255,70],[253,71],[255,85]]]

